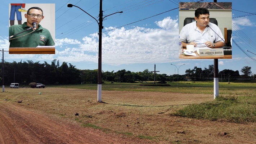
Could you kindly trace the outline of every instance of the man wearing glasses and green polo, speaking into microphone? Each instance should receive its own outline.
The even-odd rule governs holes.
[[[27,13],[25,14],[25,18],[27,18],[27,22],[9,27],[9,37],[15,35],[11,39],[9,39],[10,48],[15,48],[15,47],[35,48],[37,46],[55,45],[50,32],[39,24],[44,19],[41,8],[32,7],[28,9]],[[36,28],[25,31],[28,28],[33,27],[32,26],[33,22],[36,22]],[[17,33],[20,33],[20,34],[16,35]]]

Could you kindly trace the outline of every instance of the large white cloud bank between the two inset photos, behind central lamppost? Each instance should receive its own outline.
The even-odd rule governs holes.
[[[111,65],[163,63],[178,59],[178,20],[167,17],[155,23],[159,28],[132,27],[126,29],[122,27],[103,33],[102,63]],[[98,39],[98,33],[83,37],[81,43],[71,39],[62,39],[63,42],[78,45],[73,45],[77,48],[67,47],[63,51],[58,51],[57,59],[68,62],[98,63]]]

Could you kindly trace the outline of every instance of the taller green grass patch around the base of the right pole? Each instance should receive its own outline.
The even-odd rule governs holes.
[[[256,100],[252,96],[248,102]],[[192,104],[171,115],[216,121],[219,119],[235,123],[256,122],[256,105],[247,103],[244,98],[219,96],[214,101]]]

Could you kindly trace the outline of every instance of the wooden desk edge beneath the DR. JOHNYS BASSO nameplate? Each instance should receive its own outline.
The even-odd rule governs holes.
[[[179,55],[180,59],[232,59],[232,55],[221,55],[221,56],[201,56],[199,57],[198,53],[196,52],[196,56],[190,55]]]

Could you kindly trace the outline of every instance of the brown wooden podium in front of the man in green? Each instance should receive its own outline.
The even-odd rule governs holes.
[[[39,46],[36,48],[9,48],[9,54],[55,54],[55,46]]]

